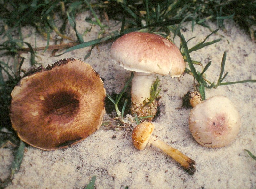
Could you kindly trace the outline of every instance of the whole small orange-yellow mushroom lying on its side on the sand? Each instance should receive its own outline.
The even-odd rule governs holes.
[[[137,125],[132,132],[132,143],[134,147],[138,150],[143,150],[147,144],[152,144],[180,163],[188,174],[193,175],[196,171],[195,161],[182,154],[179,150],[159,140],[156,136],[151,137],[154,128],[155,126],[151,122],[142,122]]]

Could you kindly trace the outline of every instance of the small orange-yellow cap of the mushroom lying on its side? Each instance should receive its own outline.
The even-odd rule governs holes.
[[[142,122],[132,132],[132,143],[138,150],[143,150],[148,144],[155,126],[150,122]]]

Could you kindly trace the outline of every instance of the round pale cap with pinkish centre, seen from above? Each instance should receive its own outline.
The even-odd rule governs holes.
[[[202,146],[224,147],[239,133],[239,112],[228,98],[213,96],[191,110],[189,128]]]

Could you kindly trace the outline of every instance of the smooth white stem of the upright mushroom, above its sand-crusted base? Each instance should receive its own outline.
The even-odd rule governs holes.
[[[143,103],[144,100],[150,99],[154,78],[155,74],[134,72],[131,89],[132,102]]]

